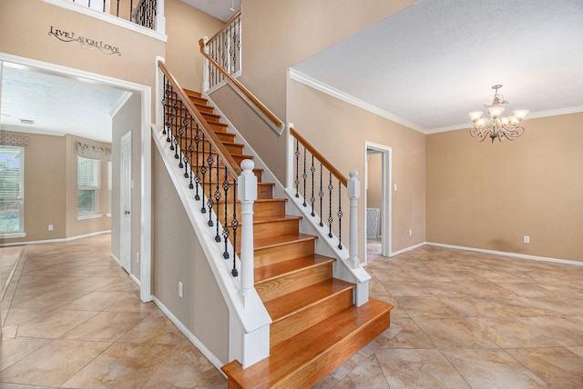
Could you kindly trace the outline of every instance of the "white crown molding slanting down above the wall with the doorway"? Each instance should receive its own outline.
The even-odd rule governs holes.
[[[394,123],[404,125],[407,128],[410,128],[421,134],[427,135],[427,130],[425,130],[423,127],[415,125],[414,123],[409,122],[403,117],[393,115],[390,112],[387,112],[376,105],[366,103],[365,101],[356,98],[353,95],[348,95],[347,93],[339,89],[336,89],[330,85],[324,84],[321,81],[316,80],[315,78],[310,77],[309,75],[304,75],[302,72],[299,72],[292,67],[288,68],[288,76],[292,80],[302,83],[303,85],[310,86],[326,95],[331,95],[334,98],[342,100],[343,102],[346,102],[348,104],[355,105],[359,108],[362,108],[365,111],[373,113],[374,115],[382,116],[385,119],[393,121]]]

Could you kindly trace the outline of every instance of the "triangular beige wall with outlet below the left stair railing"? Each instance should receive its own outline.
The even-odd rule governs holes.
[[[224,364],[229,310],[159,151],[152,145],[154,294]],[[184,297],[178,295],[178,283]]]

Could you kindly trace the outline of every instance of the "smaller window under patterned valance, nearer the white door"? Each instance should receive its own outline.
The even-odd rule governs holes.
[[[97,214],[99,210],[99,165],[97,159],[77,156],[77,215]]]

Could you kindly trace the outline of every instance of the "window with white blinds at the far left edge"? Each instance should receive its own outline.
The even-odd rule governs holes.
[[[25,149],[0,145],[0,234],[25,230]]]

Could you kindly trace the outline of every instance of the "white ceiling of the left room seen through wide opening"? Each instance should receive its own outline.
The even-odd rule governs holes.
[[[5,63],[0,124],[8,130],[111,142],[111,115],[127,95],[87,80]]]

